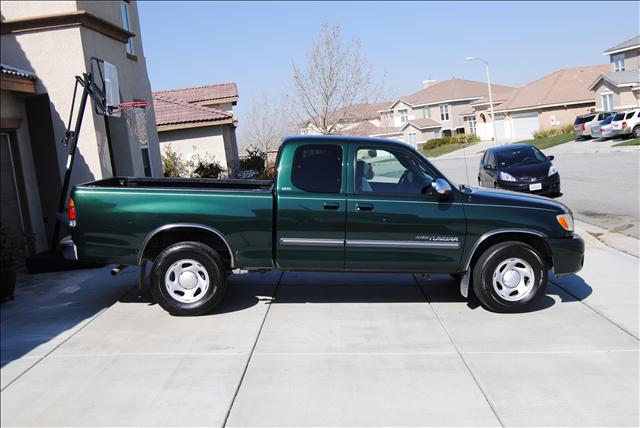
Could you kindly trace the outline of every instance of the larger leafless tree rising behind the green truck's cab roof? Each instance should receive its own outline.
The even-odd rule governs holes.
[[[292,65],[288,97],[298,125],[310,124],[320,134],[335,134],[354,123],[354,106],[375,103],[382,93],[382,82],[374,78],[360,41],[345,43],[339,25],[323,23],[304,66]]]

